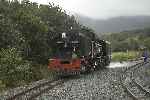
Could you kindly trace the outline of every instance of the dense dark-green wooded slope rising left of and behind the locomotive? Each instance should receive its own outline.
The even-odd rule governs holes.
[[[48,59],[62,32],[94,34],[51,3],[0,0],[0,92],[49,77]]]

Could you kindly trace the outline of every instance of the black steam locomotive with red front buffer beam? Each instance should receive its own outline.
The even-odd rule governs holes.
[[[62,33],[55,38],[48,68],[61,75],[105,68],[111,60],[110,43],[96,37],[89,38],[82,33]]]

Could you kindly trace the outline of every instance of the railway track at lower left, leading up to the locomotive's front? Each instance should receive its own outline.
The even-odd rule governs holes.
[[[23,90],[22,92],[15,95],[9,96],[6,100],[33,100],[42,93],[63,84],[65,81],[66,79],[55,79],[53,81],[47,81],[32,88]]]

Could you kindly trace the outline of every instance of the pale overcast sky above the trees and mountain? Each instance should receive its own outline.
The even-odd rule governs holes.
[[[150,15],[150,0],[30,0],[42,4],[54,2],[68,12],[91,18]]]

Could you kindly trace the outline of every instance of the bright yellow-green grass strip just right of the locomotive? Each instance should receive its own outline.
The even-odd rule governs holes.
[[[129,61],[131,59],[136,59],[138,57],[139,57],[139,52],[137,51],[112,53],[112,61]]]

